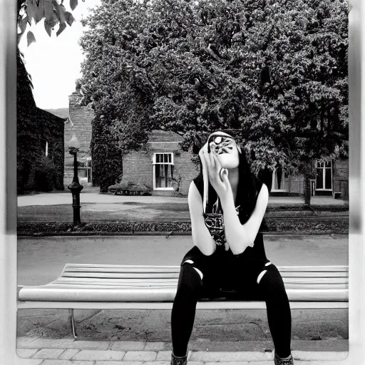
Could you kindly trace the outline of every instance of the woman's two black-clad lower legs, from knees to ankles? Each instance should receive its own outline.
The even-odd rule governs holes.
[[[195,308],[202,293],[202,279],[192,264],[184,263],[180,270],[178,292],[171,314],[173,354],[185,356],[195,319]],[[267,307],[269,329],[279,357],[290,354],[292,317],[287,292],[276,267],[269,269],[258,284]]]

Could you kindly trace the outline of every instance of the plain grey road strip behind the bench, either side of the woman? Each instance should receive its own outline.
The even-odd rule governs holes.
[[[348,235],[265,235],[278,266],[347,265]],[[191,236],[19,237],[18,285],[47,284],[68,263],[178,265]]]

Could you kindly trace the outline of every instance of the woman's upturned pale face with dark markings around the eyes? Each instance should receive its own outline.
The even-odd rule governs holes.
[[[209,136],[208,152],[211,150],[215,150],[217,153],[222,168],[232,169],[240,165],[237,144],[227,133],[216,132]]]

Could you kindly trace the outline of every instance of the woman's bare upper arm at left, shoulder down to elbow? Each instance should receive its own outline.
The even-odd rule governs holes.
[[[203,255],[210,256],[215,252],[215,242],[205,225],[202,209],[202,197],[192,181],[187,195],[191,218],[192,242]]]

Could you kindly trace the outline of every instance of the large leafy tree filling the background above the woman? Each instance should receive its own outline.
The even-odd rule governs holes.
[[[240,130],[256,172],[304,173],[309,204],[312,159],[344,153],[347,11],[342,0],[104,0],[81,41],[94,148],[125,153],[163,128],[196,152],[202,133]]]

